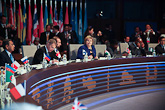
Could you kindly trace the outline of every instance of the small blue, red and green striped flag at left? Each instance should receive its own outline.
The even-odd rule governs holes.
[[[15,73],[15,69],[9,65],[6,65],[6,82],[12,82],[12,77]]]

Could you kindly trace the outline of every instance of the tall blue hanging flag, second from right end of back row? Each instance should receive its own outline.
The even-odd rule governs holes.
[[[82,44],[82,1],[80,1],[80,13],[79,13],[79,43]]]

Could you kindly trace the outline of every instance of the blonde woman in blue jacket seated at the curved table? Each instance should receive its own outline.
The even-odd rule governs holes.
[[[90,35],[85,37],[84,45],[82,45],[78,49],[77,59],[83,59],[85,53],[87,53],[88,59],[98,59],[96,56],[96,49],[92,44],[93,44],[93,38]]]

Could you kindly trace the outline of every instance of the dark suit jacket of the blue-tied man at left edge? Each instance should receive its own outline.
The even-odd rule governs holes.
[[[7,52],[4,50],[3,52],[0,53],[0,66],[5,66],[5,63],[11,65],[12,61],[8,56]]]

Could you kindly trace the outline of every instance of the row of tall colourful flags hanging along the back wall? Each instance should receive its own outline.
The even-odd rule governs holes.
[[[44,15],[43,15],[43,0],[41,0],[41,7],[40,12],[37,12],[37,4],[36,0],[34,0],[34,15],[32,18],[31,13],[31,0],[28,0],[28,7],[26,7],[26,0],[23,0],[24,4],[21,4],[21,0],[18,0],[18,10],[16,14],[16,4],[15,0],[10,0],[10,10],[9,15],[7,14],[7,7],[6,7],[6,0],[0,0],[0,16],[5,15],[9,20],[7,20],[6,23],[14,24],[17,26],[17,34],[18,38],[21,39],[22,44],[28,44],[30,45],[32,42],[34,42],[35,37],[40,37],[40,34],[44,32],[44,29],[46,25],[48,24],[54,24],[59,25],[60,32],[63,32],[64,24],[72,24],[73,30],[76,31],[79,37],[79,43],[83,42],[83,33],[87,29],[87,10],[86,10],[86,0],[85,0],[85,11],[84,11],[84,24],[82,22],[82,0],[80,0],[80,10],[79,10],[79,17],[77,15],[78,8],[77,8],[77,0],[71,0],[71,15],[69,18],[68,13],[68,0],[66,0],[66,13],[65,13],[65,21],[63,21],[63,0],[61,0],[61,8],[58,18],[57,13],[57,0],[48,0],[50,2],[50,12],[48,16],[48,7],[47,7],[47,0],[45,0],[45,9],[44,9]],[[52,7],[52,2],[54,2],[54,10]],[[75,4],[75,5],[74,5]],[[21,9],[21,5],[23,5],[23,10]],[[73,7],[75,6],[75,8]],[[75,9],[75,10],[74,10]],[[27,11],[28,10],[28,13]],[[38,18],[38,14],[39,18]],[[16,16],[17,15],[17,16]],[[17,18],[17,20],[16,20]],[[79,18],[79,20],[78,20]],[[69,21],[70,19],[70,21]]]

